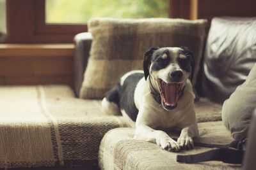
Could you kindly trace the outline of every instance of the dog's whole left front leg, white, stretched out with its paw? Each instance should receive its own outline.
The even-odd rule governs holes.
[[[156,131],[147,125],[138,125],[136,127],[134,139],[156,143],[168,151],[178,152],[180,150],[179,144],[170,138],[166,132]]]

